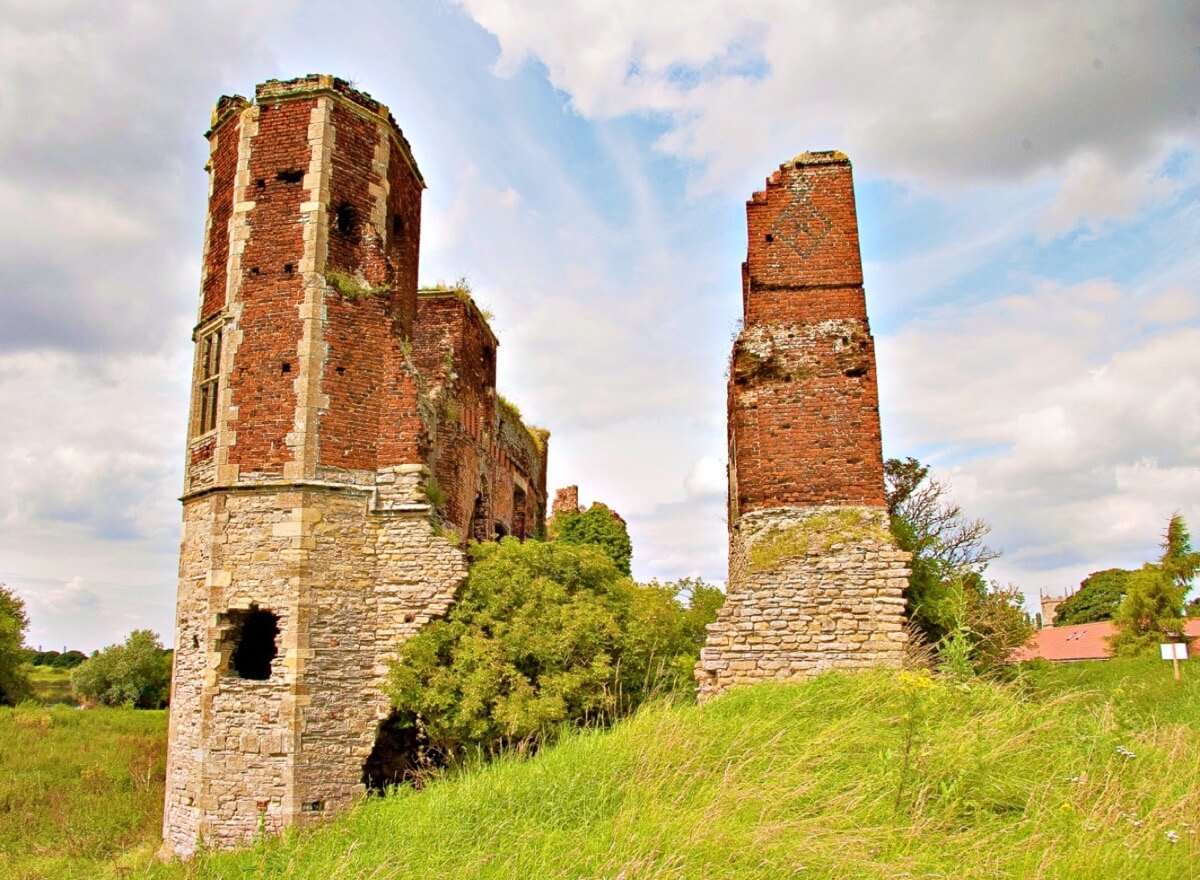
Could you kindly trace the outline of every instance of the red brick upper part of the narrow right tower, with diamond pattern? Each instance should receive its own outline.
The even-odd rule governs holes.
[[[746,205],[728,387],[731,511],[883,504],[875,343],[848,161],[788,163]]]

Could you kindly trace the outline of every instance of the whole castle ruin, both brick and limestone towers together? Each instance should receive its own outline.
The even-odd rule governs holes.
[[[184,857],[353,803],[389,662],[449,610],[466,543],[546,522],[548,435],[496,393],[486,316],[418,289],[425,181],[388,109],[270,80],[208,138],[163,816]],[[850,162],[797,157],[748,217],[702,698],[898,665],[905,640]]]

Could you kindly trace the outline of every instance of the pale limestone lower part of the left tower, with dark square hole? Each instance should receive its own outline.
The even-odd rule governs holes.
[[[467,573],[428,505],[376,503],[370,490],[296,486],[185,504],[167,851],[245,844],[362,795],[388,663]],[[232,665],[238,612],[252,609],[277,616],[264,680]]]

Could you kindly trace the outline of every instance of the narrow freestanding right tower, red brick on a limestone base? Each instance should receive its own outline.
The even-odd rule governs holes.
[[[888,532],[850,160],[805,152],[746,203],[730,363],[730,577],[701,698],[896,666],[907,553]]]

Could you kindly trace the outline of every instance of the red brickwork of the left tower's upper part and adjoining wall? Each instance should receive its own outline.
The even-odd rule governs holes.
[[[523,519],[532,533],[545,509],[546,456],[523,425],[500,418],[494,336],[469,301],[451,294],[422,298],[418,316],[424,182],[403,136],[382,106],[341,80],[272,80],[259,86],[257,97],[250,185],[245,194],[238,193],[253,202],[240,261],[242,335],[240,342],[229,337],[233,364],[223,377],[238,413],[230,423],[235,439],[229,463],[240,466],[242,474],[277,474],[293,455],[287,437],[295,429],[295,383],[304,366],[299,343],[306,291],[300,270],[310,221],[300,205],[313,197],[304,179],[312,166],[312,112],[319,100],[329,100],[328,250],[317,255],[318,264],[324,257],[326,275],[340,271],[359,285],[388,291],[346,295],[330,286],[324,294],[318,349],[324,361],[311,377],[328,397],[313,425],[318,471],[336,478],[341,468],[426,463],[449,493],[444,519],[464,533],[478,497],[484,498],[488,528],[497,521],[511,528]],[[226,109],[212,157],[205,313],[224,303],[229,258],[239,116]],[[380,150],[388,151],[385,180],[377,164]],[[293,172],[294,179],[281,179],[283,172]],[[374,199],[384,191],[380,215]],[[438,403],[434,419],[430,402]],[[197,461],[202,455],[212,453],[198,453]],[[524,504],[515,510],[521,483],[527,487]]]

